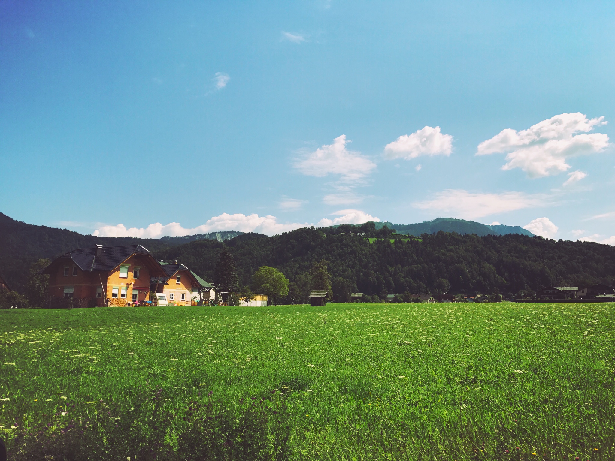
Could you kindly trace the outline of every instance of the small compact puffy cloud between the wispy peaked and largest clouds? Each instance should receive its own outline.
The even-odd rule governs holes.
[[[418,156],[450,156],[452,150],[453,136],[440,133],[440,127],[424,127],[387,144],[384,157],[410,160]]]

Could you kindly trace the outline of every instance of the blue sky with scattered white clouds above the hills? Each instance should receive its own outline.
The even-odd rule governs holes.
[[[613,2],[0,2],[0,211],[615,244],[614,26]]]

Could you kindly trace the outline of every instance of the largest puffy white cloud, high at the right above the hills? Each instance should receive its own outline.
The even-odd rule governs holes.
[[[566,171],[569,157],[592,154],[606,149],[609,137],[603,133],[587,133],[597,125],[605,125],[605,117],[587,119],[580,112],[560,114],[542,120],[527,130],[502,130],[490,140],[478,144],[477,156],[506,153],[502,170],[521,168],[530,178],[556,175]]]

